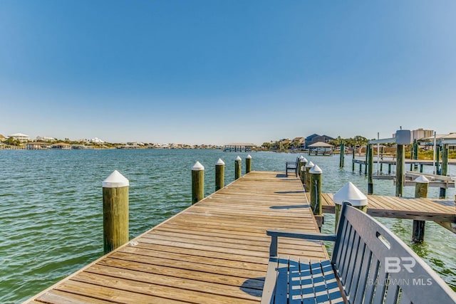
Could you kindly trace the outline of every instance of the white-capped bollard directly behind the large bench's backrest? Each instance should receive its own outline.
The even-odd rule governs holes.
[[[368,198],[354,184],[348,182],[338,192],[333,195],[333,201],[336,204],[336,217],[334,231],[337,233],[339,219],[341,218],[341,209],[344,201],[348,201],[351,206],[360,209],[363,212],[368,211]]]

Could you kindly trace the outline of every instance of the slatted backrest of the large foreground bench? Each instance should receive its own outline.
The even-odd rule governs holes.
[[[331,263],[351,303],[456,303],[456,293],[403,241],[344,204]]]

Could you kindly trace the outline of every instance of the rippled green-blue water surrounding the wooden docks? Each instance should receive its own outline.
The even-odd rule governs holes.
[[[214,192],[214,164],[226,163],[225,184],[234,180],[234,159],[247,153],[220,150],[0,150],[0,303],[21,303],[103,255],[103,179],[117,169],[130,180],[130,238],[190,206],[191,171],[205,167],[205,194]],[[296,154],[252,152],[254,170],[284,170]],[[306,156],[306,155],[305,155]],[[353,182],[367,192],[367,179],[338,168],[338,156],[308,157],[323,169],[323,192]],[[387,166],[385,166],[387,169]],[[426,168],[432,171],[432,168]],[[455,167],[450,166],[455,175]],[[392,181],[374,181],[374,193],[394,195]],[[405,187],[405,196],[414,188]],[[447,197],[454,197],[454,189]],[[429,197],[438,197],[430,189]],[[410,243],[411,220],[379,219]],[[328,214],[324,232],[333,231]],[[425,243],[413,245],[456,290],[456,236],[433,222]]]

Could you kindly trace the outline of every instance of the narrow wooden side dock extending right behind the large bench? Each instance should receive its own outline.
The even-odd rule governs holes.
[[[308,199],[310,194],[306,193]],[[323,213],[334,213],[333,194],[321,195]],[[393,219],[435,221],[456,233],[455,201],[450,199],[413,199],[398,196],[368,195],[368,214]]]

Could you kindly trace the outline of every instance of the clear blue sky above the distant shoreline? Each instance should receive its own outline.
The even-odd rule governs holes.
[[[456,1],[0,0],[0,134],[456,132]]]

